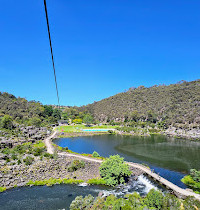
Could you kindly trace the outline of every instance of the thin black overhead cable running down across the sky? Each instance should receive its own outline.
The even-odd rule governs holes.
[[[44,8],[45,8],[45,14],[46,14],[47,29],[48,29],[48,34],[49,34],[49,44],[50,44],[50,49],[51,49],[51,59],[52,59],[52,64],[53,64],[53,71],[54,71],[54,78],[55,78],[55,85],[56,85],[56,93],[57,93],[57,99],[58,99],[58,107],[60,108],[60,100],[59,100],[58,85],[57,85],[57,79],[56,79],[56,70],[55,70],[55,64],[54,64],[54,58],[53,58],[53,48],[52,48],[52,44],[51,44],[51,34],[50,34],[46,0],[44,0]]]

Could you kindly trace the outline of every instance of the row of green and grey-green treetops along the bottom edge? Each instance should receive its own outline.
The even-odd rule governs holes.
[[[161,192],[154,189],[150,190],[146,197],[141,197],[136,192],[125,195],[125,198],[117,198],[114,195],[107,197],[97,197],[96,199],[88,195],[85,198],[77,196],[70,205],[70,210],[75,209],[113,209],[113,210],[128,210],[128,209],[188,209],[195,210],[200,208],[200,202],[192,197],[180,200],[171,194],[162,195]]]

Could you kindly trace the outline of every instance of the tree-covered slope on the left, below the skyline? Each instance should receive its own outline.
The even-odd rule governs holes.
[[[16,123],[36,126],[55,123],[61,118],[60,111],[52,106],[0,92],[0,119],[5,115],[11,116]]]

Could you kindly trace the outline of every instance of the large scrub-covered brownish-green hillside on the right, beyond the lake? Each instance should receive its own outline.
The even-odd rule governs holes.
[[[80,108],[100,122],[164,121],[175,127],[200,124],[200,80],[169,86],[130,88],[99,102]]]

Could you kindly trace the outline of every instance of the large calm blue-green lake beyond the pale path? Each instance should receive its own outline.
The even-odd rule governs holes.
[[[191,168],[200,168],[200,142],[174,139],[162,135],[98,135],[55,139],[54,143],[78,153],[101,156],[119,154],[127,161],[146,163],[164,178],[185,188],[181,178]]]

